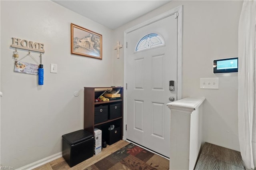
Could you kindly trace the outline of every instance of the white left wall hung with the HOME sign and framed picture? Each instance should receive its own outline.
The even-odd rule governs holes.
[[[113,31],[52,1],[0,3],[1,164],[18,168],[61,152],[61,136],[83,128],[83,87],[113,83]],[[102,34],[102,60],[70,55],[71,22]],[[12,37],[44,43],[44,85],[36,75],[14,72]],[[39,61],[39,53],[31,54]],[[58,64],[57,74],[50,63]]]

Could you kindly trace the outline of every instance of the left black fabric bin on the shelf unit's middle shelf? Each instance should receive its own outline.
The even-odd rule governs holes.
[[[94,124],[108,121],[108,105],[95,105]]]

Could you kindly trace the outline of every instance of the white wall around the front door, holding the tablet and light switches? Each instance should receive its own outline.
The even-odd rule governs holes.
[[[204,96],[203,140],[239,149],[237,73],[214,75],[214,59],[238,56],[242,1],[172,1],[116,30],[113,43],[124,43],[124,30],[183,5],[183,97]],[[123,85],[124,50],[113,58],[114,84]],[[219,77],[219,89],[200,89],[200,78]]]

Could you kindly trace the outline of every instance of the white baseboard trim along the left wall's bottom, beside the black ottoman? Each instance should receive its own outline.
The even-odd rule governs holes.
[[[32,170],[34,168],[37,168],[39,166],[42,166],[44,164],[47,164],[48,162],[51,162],[53,160],[56,160],[58,158],[62,157],[62,152],[58,152],[56,154],[53,154],[51,156],[48,156],[46,158],[43,158],[41,160],[38,160],[36,162],[33,162],[31,164],[28,164],[28,165],[25,165],[25,166],[22,166],[20,168],[18,168],[17,170]]]

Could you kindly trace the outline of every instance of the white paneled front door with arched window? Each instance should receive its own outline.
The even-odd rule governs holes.
[[[175,82],[174,91],[169,81]],[[128,140],[170,157],[170,103],[177,99],[177,15],[127,34]]]

